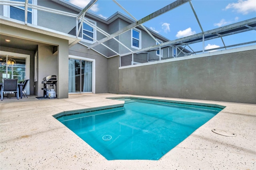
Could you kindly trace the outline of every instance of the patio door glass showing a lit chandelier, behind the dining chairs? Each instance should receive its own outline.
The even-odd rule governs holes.
[[[0,83],[3,79],[26,79],[26,58],[12,55],[0,55]]]

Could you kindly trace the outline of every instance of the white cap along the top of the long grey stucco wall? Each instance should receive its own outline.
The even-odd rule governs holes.
[[[221,50],[221,51],[214,51],[214,52],[210,52],[210,53],[187,55],[187,56],[184,56],[184,57],[170,58],[170,59],[165,59],[165,60],[161,60],[161,61],[152,61],[152,62],[149,62],[149,63],[142,63],[142,64],[136,64],[136,65],[126,65],[126,66],[119,67],[119,69],[126,69],[126,68],[130,68],[130,67],[140,67],[140,66],[144,66],[144,65],[152,65],[152,64],[159,64],[159,63],[168,63],[168,62],[173,62],[173,61],[181,61],[181,60],[195,59],[195,58],[201,58],[201,57],[210,57],[210,56],[213,56],[213,55],[236,53],[236,52],[240,52],[240,51],[249,51],[249,50],[254,50],[254,49],[256,49],[256,45],[250,45],[250,46],[246,46],[246,47],[238,47],[238,48],[234,48],[234,49],[224,49],[224,50]]]

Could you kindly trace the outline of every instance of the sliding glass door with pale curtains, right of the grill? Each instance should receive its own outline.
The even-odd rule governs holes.
[[[83,59],[69,58],[68,92],[92,93],[93,62]]]

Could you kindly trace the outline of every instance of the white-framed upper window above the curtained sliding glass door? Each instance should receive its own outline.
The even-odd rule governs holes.
[[[96,29],[92,25],[96,26],[96,22],[87,18],[86,20],[90,22],[90,25],[83,22],[79,36],[83,38],[83,42],[94,43],[96,40]],[[79,28],[79,25],[80,23],[77,25],[77,28]],[[82,36],[81,33],[83,34]]]

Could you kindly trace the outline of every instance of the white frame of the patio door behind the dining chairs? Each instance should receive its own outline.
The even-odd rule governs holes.
[[[21,54],[21,53],[13,53],[13,52],[8,52],[8,51],[0,51],[0,54],[26,58],[26,79],[30,79],[30,55]],[[30,95],[30,90],[27,90],[27,89],[30,89],[29,84],[30,83],[28,83],[26,86],[26,94],[27,95]]]

